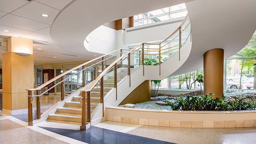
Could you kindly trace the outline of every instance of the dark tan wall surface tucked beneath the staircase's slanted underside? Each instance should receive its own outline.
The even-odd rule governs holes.
[[[136,89],[134,89],[123,101],[120,105],[125,105],[127,103],[140,103],[150,101],[150,80],[146,80],[142,82]]]

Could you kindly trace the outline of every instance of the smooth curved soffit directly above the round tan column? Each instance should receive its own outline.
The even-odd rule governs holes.
[[[256,29],[255,7],[256,0],[196,0],[186,3],[192,50],[184,65],[170,76],[203,68],[203,54],[213,48],[223,48],[224,58],[240,51]]]

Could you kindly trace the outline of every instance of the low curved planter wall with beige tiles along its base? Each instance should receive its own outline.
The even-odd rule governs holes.
[[[108,109],[111,109],[111,113],[108,113]],[[122,115],[120,115],[119,113],[120,111],[117,113],[114,113],[113,109],[122,110]],[[129,110],[131,109],[128,109],[127,111]],[[141,125],[149,125],[149,126],[185,127],[185,128],[234,128],[234,127],[255,127],[256,126],[256,117],[254,117],[254,114],[256,113],[252,112],[253,113],[252,115],[252,113],[248,113],[248,111],[245,113],[250,114],[249,118],[252,116],[253,119],[234,120],[234,113],[232,113],[232,115],[230,115],[231,120],[227,120],[227,118],[225,118],[225,120],[196,120],[196,121],[195,120],[163,120],[163,119],[142,118],[144,117],[143,115],[147,114],[145,113],[147,112],[147,110],[145,111],[131,110],[127,112],[127,114],[125,114],[126,110],[124,110],[123,108],[119,109],[119,108],[107,107],[106,111],[107,111],[106,120],[108,121],[130,123],[130,124],[141,124]],[[134,111],[137,111],[137,113],[139,112],[142,112],[142,113],[139,117],[135,118],[133,115]],[[155,114],[157,113],[158,112],[156,111]],[[152,115],[153,113],[151,112],[148,114]],[[196,114],[198,113],[192,112],[192,114],[195,114],[195,117],[197,117]],[[222,115],[226,115],[226,114],[223,113]],[[193,116],[190,115],[190,117],[193,117]]]

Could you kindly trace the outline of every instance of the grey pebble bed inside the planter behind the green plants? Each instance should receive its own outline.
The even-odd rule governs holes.
[[[226,100],[230,101],[235,97],[243,97],[249,99],[249,96],[256,96],[256,90],[226,90],[224,92]],[[186,96],[183,96],[185,98]],[[152,97],[151,101],[136,103],[135,108],[137,109],[154,109],[154,110],[172,110],[170,106],[160,106],[156,104],[156,101],[161,101],[163,98],[168,99],[169,101],[175,101],[178,97],[168,97],[168,96],[158,96]],[[123,107],[119,105],[118,107]]]

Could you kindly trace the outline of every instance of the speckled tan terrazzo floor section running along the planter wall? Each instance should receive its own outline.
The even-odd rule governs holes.
[[[172,128],[141,126],[127,134],[179,144],[256,144],[256,127]]]

